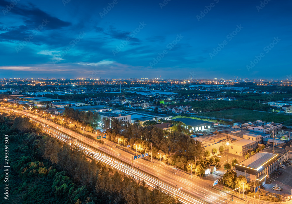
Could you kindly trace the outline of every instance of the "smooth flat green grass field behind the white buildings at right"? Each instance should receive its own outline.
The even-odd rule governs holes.
[[[246,110],[246,109],[212,111],[212,112],[201,113],[201,114],[196,114],[196,115],[232,119],[232,120],[235,120],[236,122],[263,120],[267,122],[279,123],[279,122],[283,122],[292,118],[292,115],[263,113],[263,112]]]

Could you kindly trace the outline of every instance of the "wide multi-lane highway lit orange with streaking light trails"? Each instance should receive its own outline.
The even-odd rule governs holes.
[[[11,109],[4,109],[7,112]],[[144,160],[144,159],[137,159],[134,160],[134,166],[138,167],[138,170],[136,171],[132,167],[129,167],[128,165],[125,165],[124,163],[115,160],[111,157],[108,157],[107,155],[104,155],[100,153],[98,150],[102,150],[110,155],[116,156],[117,153],[123,153],[121,157],[119,157],[121,160],[126,161],[127,163],[132,163],[132,154],[122,151],[118,148],[116,148],[116,144],[114,142],[108,141],[104,139],[104,145],[98,143],[97,141],[93,139],[89,139],[81,134],[78,134],[70,129],[67,129],[65,127],[62,127],[61,131],[57,130],[60,129],[60,125],[57,125],[49,120],[46,120],[42,117],[38,117],[37,115],[30,114],[29,111],[19,111],[19,110],[13,110],[14,112],[20,113],[22,115],[26,115],[27,117],[32,118],[35,122],[44,123],[45,126],[43,126],[43,129],[53,134],[53,136],[57,137],[58,139],[68,142],[71,139],[77,139],[77,142],[73,142],[75,145],[77,145],[80,149],[83,149],[87,153],[92,153],[93,158],[96,160],[101,160],[102,162],[105,162],[112,167],[124,172],[125,174],[134,176],[135,178],[139,178],[140,180],[144,179],[145,182],[154,187],[159,186],[163,191],[173,194],[175,191],[175,196],[177,196],[181,202],[183,203],[248,203],[247,200],[241,200],[236,197],[234,197],[233,201],[230,201],[232,196],[229,194],[225,194],[221,191],[218,191],[216,189],[213,189],[211,187],[211,181],[206,181],[203,179],[200,179],[196,176],[193,176],[192,179],[190,175],[182,173],[182,172],[176,172],[175,169],[172,166],[165,165],[163,162],[160,162],[157,160],[152,160],[153,163]],[[65,132],[66,134],[64,134]],[[69,135],[69,136],[68,136]],[[86,144],[89,144],[91,147],[86,146]],[[157,176],[159,179],[155,179],[154,177],[149,176],[148,174],[143,173],[142,171],[139,171],[139,169],[152,174],[154,176]],[[136,176],[137,172],[137,176]],[[220,185],[220,184],[218,184]],[[177,190],[178,188],[183,187],[181,190]],[[242,195],[241,195],[242,196]],[[262,203],[260,201],[256,200],[250,200],[251,203]]]

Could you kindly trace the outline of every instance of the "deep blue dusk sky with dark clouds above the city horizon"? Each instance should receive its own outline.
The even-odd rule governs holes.
[[[0,78],[292,74],[289,0],[0,0],[0,8]]]

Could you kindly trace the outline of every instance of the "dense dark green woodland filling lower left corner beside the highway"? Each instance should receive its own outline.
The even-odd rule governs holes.
[[[18,116],[0,115],[2,143],[9,135],[10,197],[15,203],[179,203],[102,162],[88,158]],[[17,124],[30,123],[22,129]],[[4,152],[4,145],[0,147]],[[4,174],[0,176],[4,189]]]

